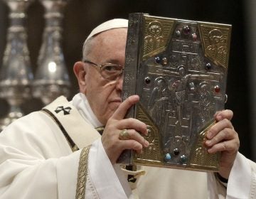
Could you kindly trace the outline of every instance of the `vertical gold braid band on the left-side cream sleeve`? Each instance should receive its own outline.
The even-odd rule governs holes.
[[[85,186],[87,180],[88,173],[88,155],[90,151],[90,146],[83,148],[80,154],[80,161],[78,166],[78,183],[76,190],[76,199],[84,199],[85,198]]]

